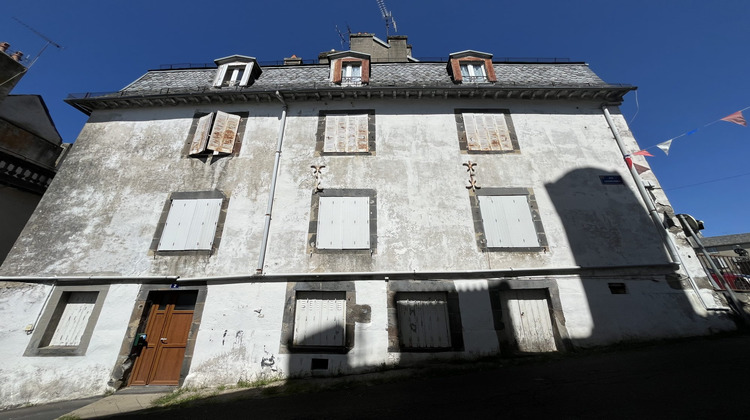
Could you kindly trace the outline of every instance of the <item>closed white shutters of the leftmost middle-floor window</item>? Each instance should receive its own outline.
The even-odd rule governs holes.
[[[210,250],[222,201],[221,198],[172,200],[157,250]]]

